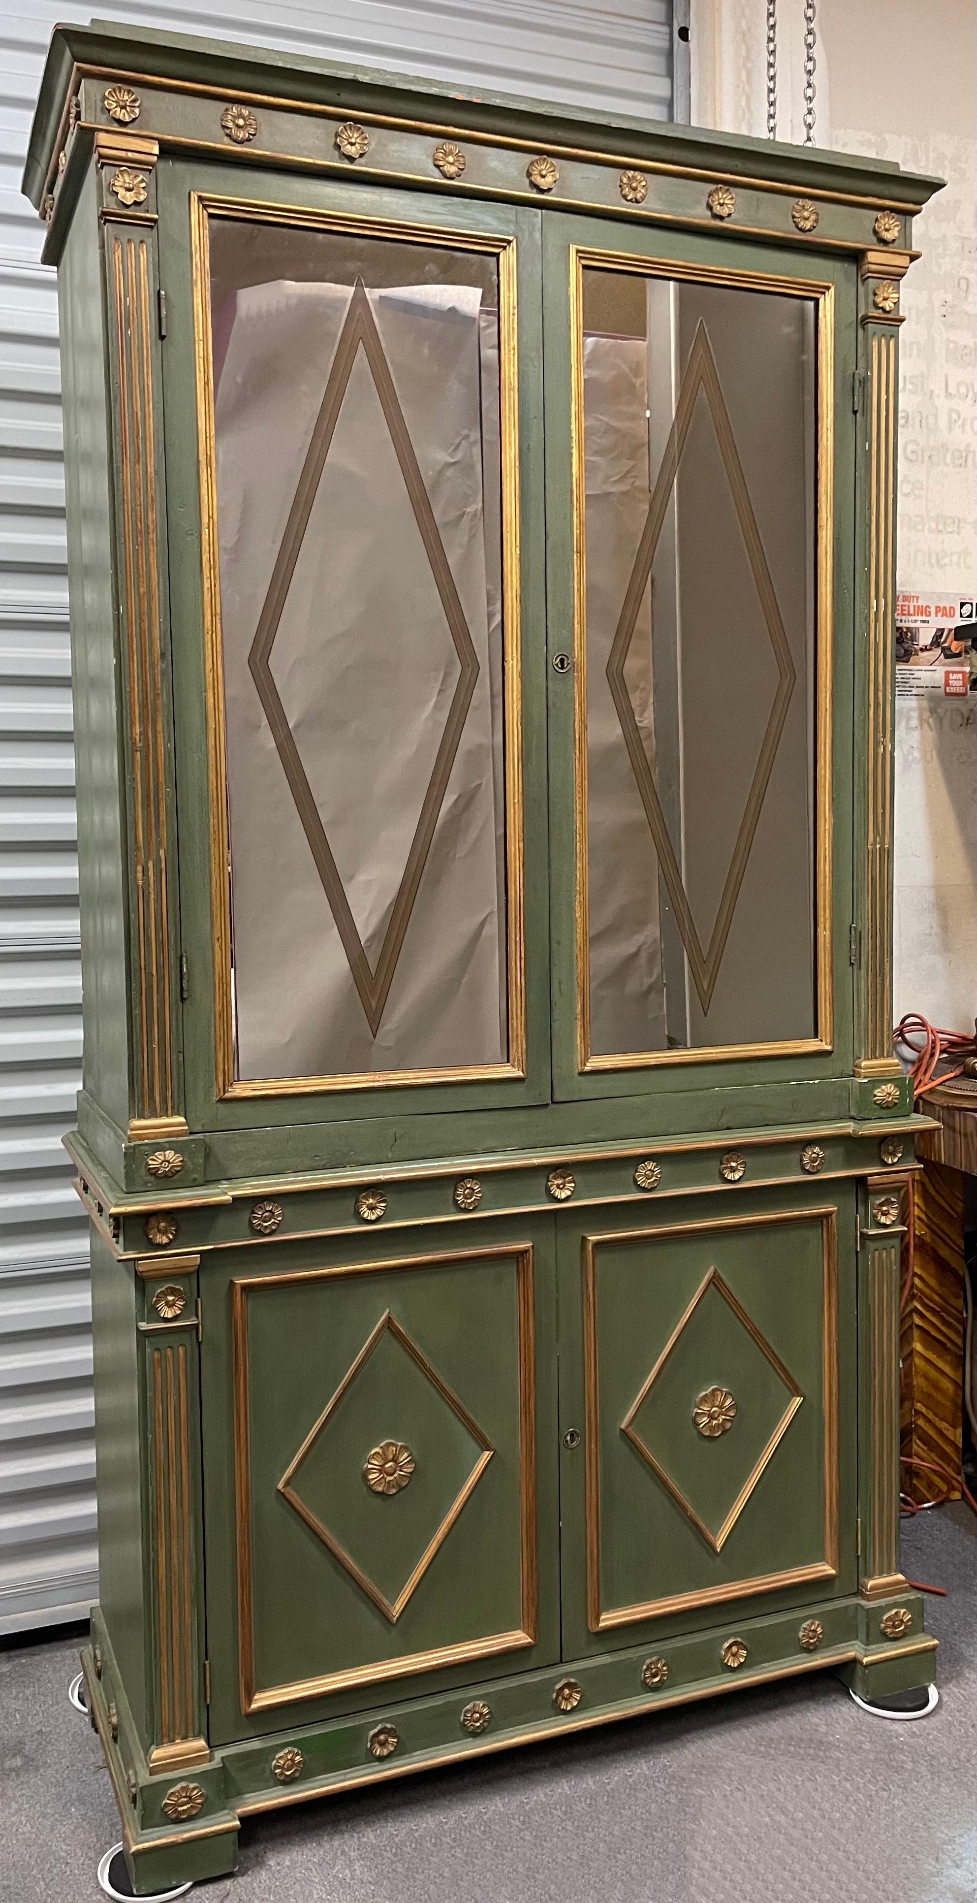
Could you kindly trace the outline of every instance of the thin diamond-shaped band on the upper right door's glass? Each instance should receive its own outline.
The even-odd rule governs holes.
[[[718,453],[722,457],[722,468],[726,472],[732,502],[736,508],[739,529],[743,533],[749,569],[757,586],[764,626],[770,636],[770,645],[774,649],[774,660],[777,666],[777,687],[774,693],[770,717],[766,721],[764,738],[760,744],[757,767],[747,794],[747,803],[736,835],[734,853],[722,885],[722,894],[713,921],[713,931],[705,946],[699,938],[696,921],[692,917],[692,906],[688,900],[688,893],[684,889],[682,872],[667,830],[665,814],[661,811],[661,801],[658,797],[656,776],[641,740],[639,723],[635,719],[635,710],[623,677],[627,655],[641,615],[641,603],[644,598],[644,590],[648,586],[648,579],[652,575],[652,563],[665,523],[669,500],[675,483],[679,480],[682,451],[686,447],[686,438],[692,426],[692,417],[699,394],[705,398],[707,411],[717,434]],[[736,902],[739,898],[739,887],[743,883],[743,873],[747,870],[753,839],[757,835],[757,826],[760,822],[760,811],[764,805],[766,788],[770,784],[770,775],[774,771],[774,759],[783,733],[783,723],[787,719],[787,708],[791,704],[791,696],[795,691],[796,670],[787,643],[783,618],[777,607],[774,580],[760,540],[760,531],[757,527],[757,518],[753,514],[743,464],[739,462],[739,451],[736,447],[736,436],[732,430],[730,413],[726,409],[726,400],[722,396],[713,346],[709,343],[709,333],[701,318],[696,329],[692,350],[688,354],[688,363],[679,388],[679,402],[675,405],[675,421],[669,432],[665,453],[661,457],[661,468],[658,472],[658,480],[652,491],[644,529],[641,533],[641,540],[637,546],[631,577],[627,582],[627,592],[623,598],[623,607],[618,618],[618,628],[614,634],[610,658],[606,664],[606,677],[610,693],[614,696],[614,706],[618,710],[618,719],[622,725],[623,742],[627,746],[631,769],[635,773],[635,780],[639,786],[644,816],[648,820],[648,828],[652,832],[652,839],[656,845],[661,875],[665,879],[665,887],[675,910],[675,919],[682,936],[682,946],[688,957],[692,982],[696,986],[701,1009],[709,1010],[709,1003],[718,978],[718,969],[722,965],[722,953],[726,950],[726,940],[730,936]]]

